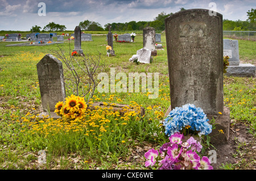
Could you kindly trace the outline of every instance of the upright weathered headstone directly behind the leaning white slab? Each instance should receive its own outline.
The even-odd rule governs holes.
[[[155,51],[155,28],[146,27],[143,29],[143,48]]]

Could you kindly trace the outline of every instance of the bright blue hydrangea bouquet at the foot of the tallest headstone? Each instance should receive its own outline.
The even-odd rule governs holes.
[[[192,131],[199,132],[198,135],[207,135],[212,132],[212,125],[208,123],[207,115],[200,107],[193,104],[185,104],[182,107],[176,107],[172,110],[163,125],[166,127],[166,133],[171,134],[181,132],[182,129],[190,128]]]

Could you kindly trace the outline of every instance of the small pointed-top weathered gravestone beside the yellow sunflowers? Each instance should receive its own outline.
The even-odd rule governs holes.
[[[38,70],[43,107],[43,112],[40,116],[46,116],[48,112],[50,112],[51,117],[55,117],[57,116],[56,113],[54,113],[56,103],[64,102],[66,96],[62,62],[51,54],[46,54],[46,56],[36,64],[36,68]]]

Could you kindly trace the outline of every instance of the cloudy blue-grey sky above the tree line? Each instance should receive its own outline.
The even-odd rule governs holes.
[[[46,15],[42,14],[46,5]],[[211,2],[216,7],[210,4]],[[29,31],[32,26],[44,27],[49,22],[74,30],[84,20],[100,23],[152,21],[162,11],[169,14],[185,9],[212,9],[224,19],[246,20],[246,11],[256,8],[255,0],[0,0],[0,30]],[[40,13],[38,13],[40,12]]]

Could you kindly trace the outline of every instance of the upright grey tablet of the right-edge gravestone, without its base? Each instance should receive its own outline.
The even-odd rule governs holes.
[[[238,40],[223,40],[223,55],[229,56],[229,65],[239,65]]]

